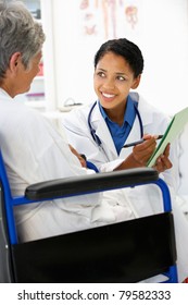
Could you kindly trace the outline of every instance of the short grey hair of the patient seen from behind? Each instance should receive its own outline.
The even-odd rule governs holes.
[[[4,77],[13,53],[21,52],[26,69],[42,48],[41,25],[21,1],[0,0],[0,80]]]

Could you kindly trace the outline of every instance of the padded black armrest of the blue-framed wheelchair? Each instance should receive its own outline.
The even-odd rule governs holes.
[[[26,188],[25,196],[32,200],[77,196],[146,184],[158,179],[159,173],[152,168],[128,169],[32,184]]]

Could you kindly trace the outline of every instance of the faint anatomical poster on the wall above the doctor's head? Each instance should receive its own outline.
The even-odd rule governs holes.
[[[85,36],[104,40],[138,33],[141,0],[80,0],[80,27]]]

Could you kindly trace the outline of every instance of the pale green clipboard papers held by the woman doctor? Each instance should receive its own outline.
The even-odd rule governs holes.
[[[188,107],[183,109],[181,111],[177,112],[172,121],[170,122],[162,139],[160,141],[158,147],[155,148],[154,152],[150,157],[147,166],[153,167],[158,157],[163,154],[166,145],[172,143],[178,134],[184,130],[184,126],[188,123]]]

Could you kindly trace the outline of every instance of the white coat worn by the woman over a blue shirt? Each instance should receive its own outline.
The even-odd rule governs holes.
[[[170,122],[170,118],[146,102],[137,93],[131,93],[130,96],[134,100],[138,101],[138,111],[142,120],[143,134],[163,134]],[[88,115],[91,107],[92,103],[72,110],[63,117],[62,123],[66,130],[68,143],[71,143],[77,151],[85,154],[87,159],[93,162],[99,171],[111,171],[131,152],[133,147],[123,148],[120,156],[117,155],[108,125],[97,105],[90,115],[90,124],[96,131],[96,135],[101,141],[101,145],[99,146],[93,141],[88,125]],[[140,139],[140,123],[138,115],[136,115],[136,120],[125,143],[131,143],[138,139]],[[178,183],[177,147],[176,145],[172,146],[171,159],[174,166],[171,173],[166,171],[164,175],[167,184],[176,188]]]

